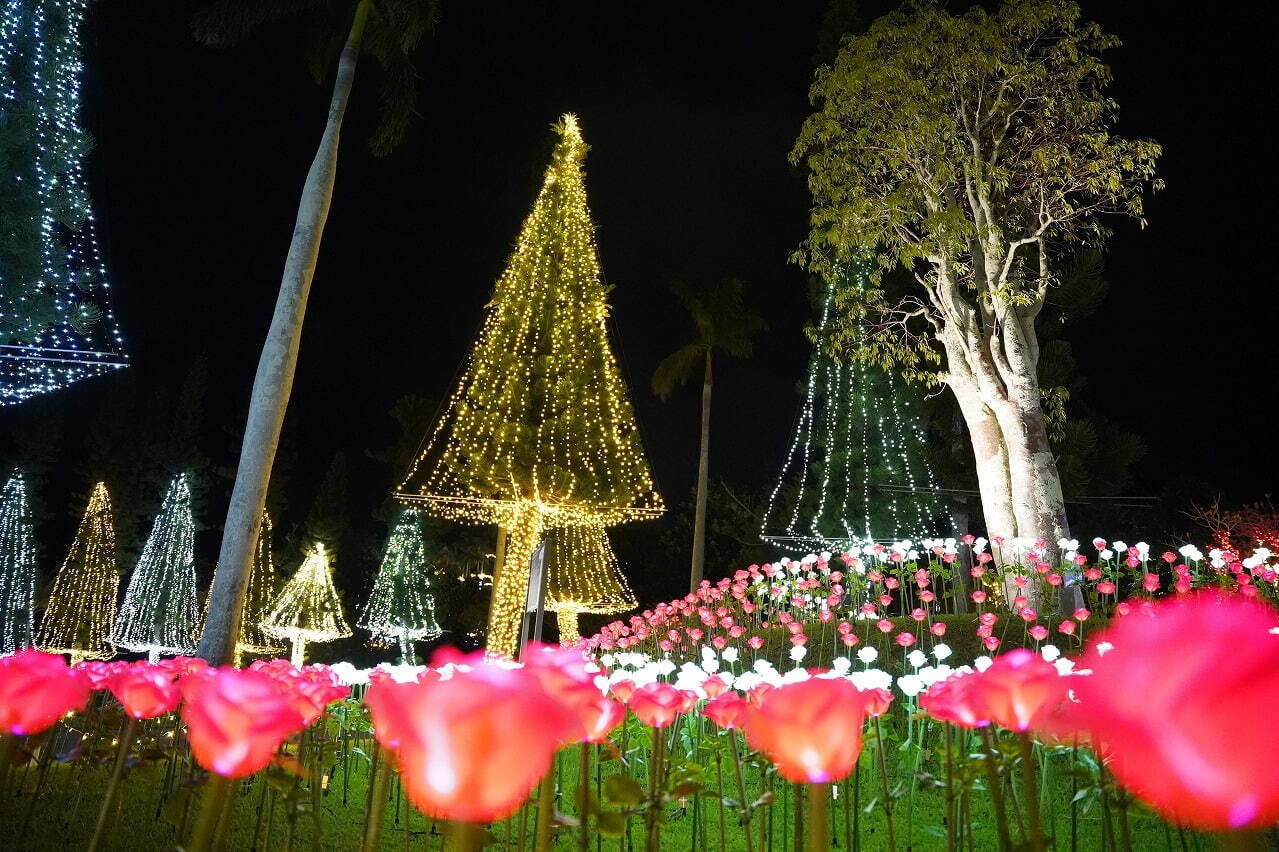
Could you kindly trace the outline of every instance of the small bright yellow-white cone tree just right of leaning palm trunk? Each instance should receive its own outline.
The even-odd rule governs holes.
[[[322,544],[302,560],[298,573],[284,583],[280,596],[262,615],[262,632],[293,643],[293,665],[302,665],[307,642],[331,642],[350,636],[341,599],[333,585],[333,567]]]

